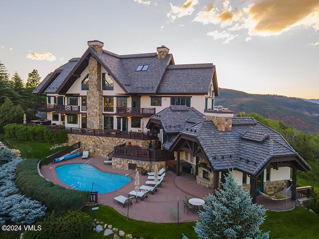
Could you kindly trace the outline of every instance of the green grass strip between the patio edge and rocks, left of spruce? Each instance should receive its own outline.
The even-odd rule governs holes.
[[[188,237],[188,239],[197,239],[193,228],[193,226],[195,226],[195,222],[179,223],[177,225],[177,223],[150,223],[136,221],[130,218],[127,220],[127,217],[119,214],[109,206],[98,205],[94,207],[99,207],[99,209],[92,211],[92,207],[85,207],[83,211],[89,214],[93,219],[107,223],[108,225],[111,224],[113,227],[118,228],[127,234],[132,234],[133,238],[181,239],[183,233]],[[112,239],[113,235],[104,237],[102,232],[97,234],[92,231],[89,233],[87,238]]]

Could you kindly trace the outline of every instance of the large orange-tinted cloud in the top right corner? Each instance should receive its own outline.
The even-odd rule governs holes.
[[[280,35],[301,25],[319,30],[318,0],[254,0],[247,14],[249,35]]]

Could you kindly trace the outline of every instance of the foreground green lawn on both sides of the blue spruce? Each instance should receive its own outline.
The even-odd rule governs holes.
[[[136,238],[147,239],[181,239],[182,233],[189,239],[197,239],[194,233],[192,223],[149,223],[127,220],[127,217],[119,214],[113,208],[98,205],[98,210],[91,210],[91,207],[85,207],[84,212],[91,215],[101,222],[112,224],[113,227],[132,234]],[[262,225],[263,232],[270,231],[271,239],[318,239],[319,235],[319,215],[310,212],[302,207],[296,207],[295,210],[289,212],[266,212],[266,221]],[[105,238],[102,233],[90,232],[88,239]],[[109,236],[106,239],[111,239]]]

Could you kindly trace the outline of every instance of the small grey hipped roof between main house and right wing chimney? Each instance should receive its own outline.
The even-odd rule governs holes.
[[[203,114],[187,106],[169,106],[158,114],[151,116],[147,127],[153,122],[161,124],[166,134],[178,134],[203,118]]]

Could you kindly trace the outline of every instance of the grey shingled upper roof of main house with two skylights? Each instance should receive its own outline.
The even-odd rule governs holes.
[[[126,94],[207,94],[213,79],[215,96],[218,85],[213,64],[174,65],[172,54],[158,59],[158,53],[118,55],[90,46],[81,58],[73,58],[59,67],[33,91],[36,94],[65,94],[93,56]],[[146,71],[137,71],[148,65]],[[178,84],[177,84],[178,83]]]

